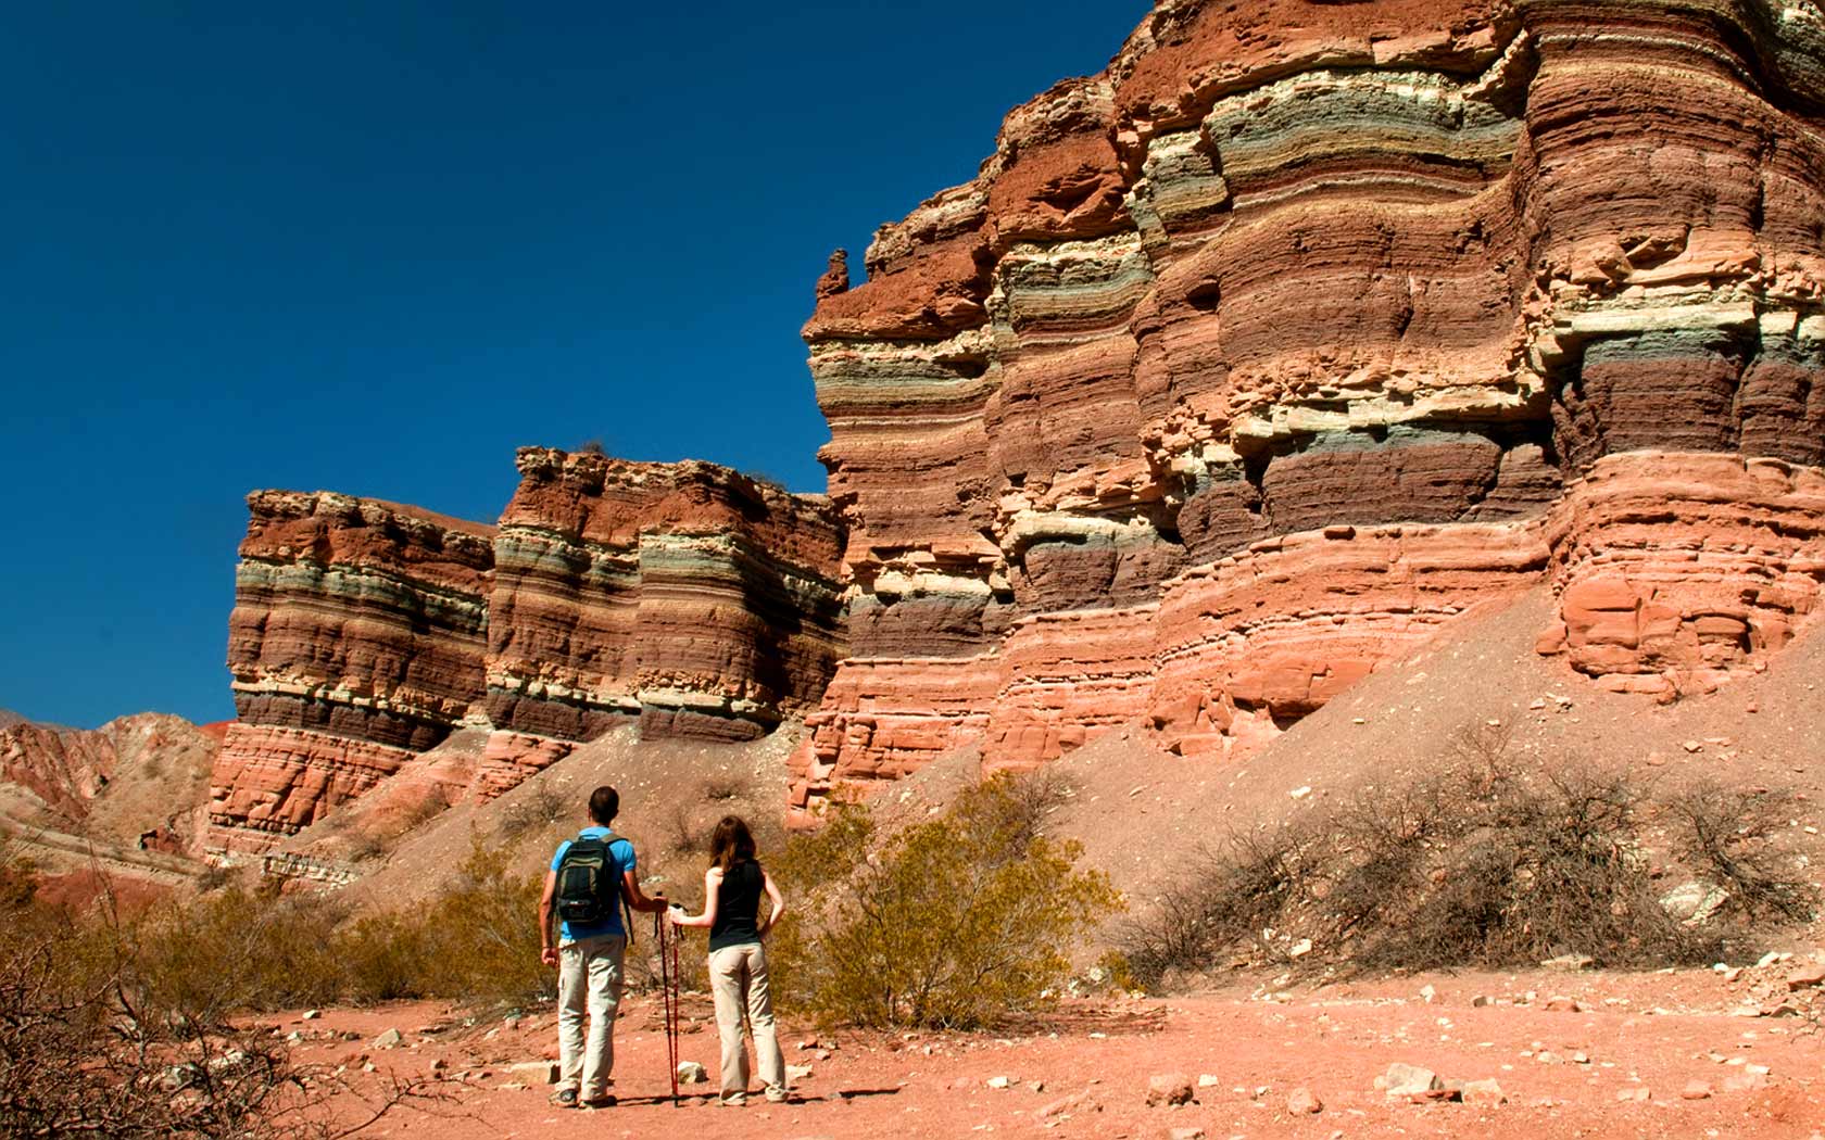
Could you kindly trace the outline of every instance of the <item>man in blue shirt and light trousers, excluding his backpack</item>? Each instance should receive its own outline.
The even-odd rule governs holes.
[[[589,793],[589,826],[577,839],[610,839],[610,824],[620,810],[620,793],[602,786]],[[540,958],[558,967],[558,1067],[562,1078],[551,1104],[564,1107],[600,1109],[615,1104],[608,1093],[610,1073],[615,1069],[615,1009],[620,1005],[622,958],[628,952],[628,932],[620,925],[620,897],[635,910],[662,912],[664,896],[648,897],[635,872],[633,845],[615,835],[608,852],[620,874],[620,890],[608,908],[608,917],[593,923],[557,923],[558,866],[575,839],[566,839],[551,855],[546,874],[546,894],[538,899],[538,932],[544,943]],[[584,1018],[589,1021],[589,1042],[584,1047]]]

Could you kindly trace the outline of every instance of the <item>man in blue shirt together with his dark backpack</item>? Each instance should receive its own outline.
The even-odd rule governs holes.
[[[664,896],[648,897],[641,890],[633,845],[610,830],[619,810],[620,793],[613,788],[589,793],[589,826],[558,845],[546,874],[546,894],[538,899],[540,959],[558,967],[562,1078],[551,1104],[566,1109],[615,1104],[608,1082],[615,1069],[615,1009],[628,952],[622,901],[633,910],[666,908]],[[589,1020],[588,1049],[584,1016]]]

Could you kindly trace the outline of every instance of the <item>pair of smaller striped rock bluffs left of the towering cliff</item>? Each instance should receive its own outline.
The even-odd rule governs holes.
[[[498,527],[257,491],[235,569],[237,722],[210,845],[265,852],[449,737],[491,728],[491,797],[579,741],[748,739],[836,660],[836,522],[710,463],[524,449]]]

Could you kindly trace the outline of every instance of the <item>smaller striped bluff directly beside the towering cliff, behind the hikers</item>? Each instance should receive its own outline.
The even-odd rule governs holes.
[[[520,451],[500,518],[487,715],[515,735],[743,741],[816,706],[843,655],[821,496],[712,463]],[[502,753],[491,748],[491,755]]]

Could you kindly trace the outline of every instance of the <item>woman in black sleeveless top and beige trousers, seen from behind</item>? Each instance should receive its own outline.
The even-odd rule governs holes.
[[[703,914],[684,914],[672,907],[679,927],[710,928],[710,992],[715,996],[715,1029],[723,1038],[725,1105],[741,1105],[748,1096],[748,1052],[741,1047],[741,1014],[746,1010],[754,1031],[754,1054],[766,1085],[766,1100],[787,1098],[787,1062],[774,1029],[774,1000],[766,990],[766,932],[785,912],[785,899],[772,876],[754,859],[754,834],[739,815],[725,815],[710,837],[710,870],[703,876]],[[757,921],[761,894],[770,910]]]

